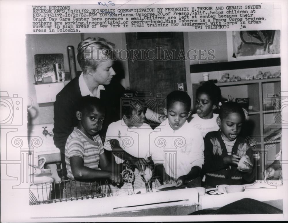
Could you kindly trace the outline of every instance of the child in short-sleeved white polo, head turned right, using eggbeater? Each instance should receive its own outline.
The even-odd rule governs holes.
[[[106,150],[112,151],[119,172],[122,172],[123,166],[134,172],[132,186],[135,193],[137,189],[145,188],[140,174],[143,176],[146,167],[153,170],[153,162],[149,156],[149,134],[152,129],[144,122],[146,110],[145,99],[135,97],[135,92],[126,90],[121,103],[122,119],[108,126],[104,144]],[[151,173],[152,171],[150,178]],[[155,187],[155,184],[152,182],[151,186]]]

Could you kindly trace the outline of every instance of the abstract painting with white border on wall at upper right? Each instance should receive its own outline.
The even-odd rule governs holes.
[[[280,30],[228,31],[228,61],[280,57]]]

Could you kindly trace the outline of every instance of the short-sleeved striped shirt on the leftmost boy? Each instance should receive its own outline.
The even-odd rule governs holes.
[[[79,129],[74,129],[69,135],[65,145],[65,161],[68,178],[74,179],[69,160],[71,157],[81,157],[85,167],[100,169],[98,165],[100,155],[104,153],[103,144],[99,135],[93,136],[93,139],[94,140],[88,138]]]

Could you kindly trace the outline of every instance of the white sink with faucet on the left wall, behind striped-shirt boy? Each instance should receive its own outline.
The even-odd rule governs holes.
[[[48,124],[41,124],[41,125],[30,125],[28,126],[28,132],[29,132],[29,148],[34,149],[34,154],[39,155],[39,157],[45,157],[46,163],[56,163],[61,162],[60,157],[60,150],[56,148],[53,141],[53,136],[50,136],[49,134],[45,136],[42,134],[43,128],[47,126],[46,130],[50,133],[52,133],[52,129],[54,127],[53,123]],[[37,147],[34,147],[31,145],[31,140],[33,138],[41,138],[40,145],[37,145]],[[41,142],[42,140],[42,142]]]

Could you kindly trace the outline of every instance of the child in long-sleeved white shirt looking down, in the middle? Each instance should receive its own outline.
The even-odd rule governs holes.
[[[154,129],[150,153],[160,183],[175,180],[178,186],[200,186],[198,178],[204,164],[204,142],[199,129],[189,125],[191,99],[174,91],[167,96],[166,121]],[[168,121],[167,121],[168,120]]]

